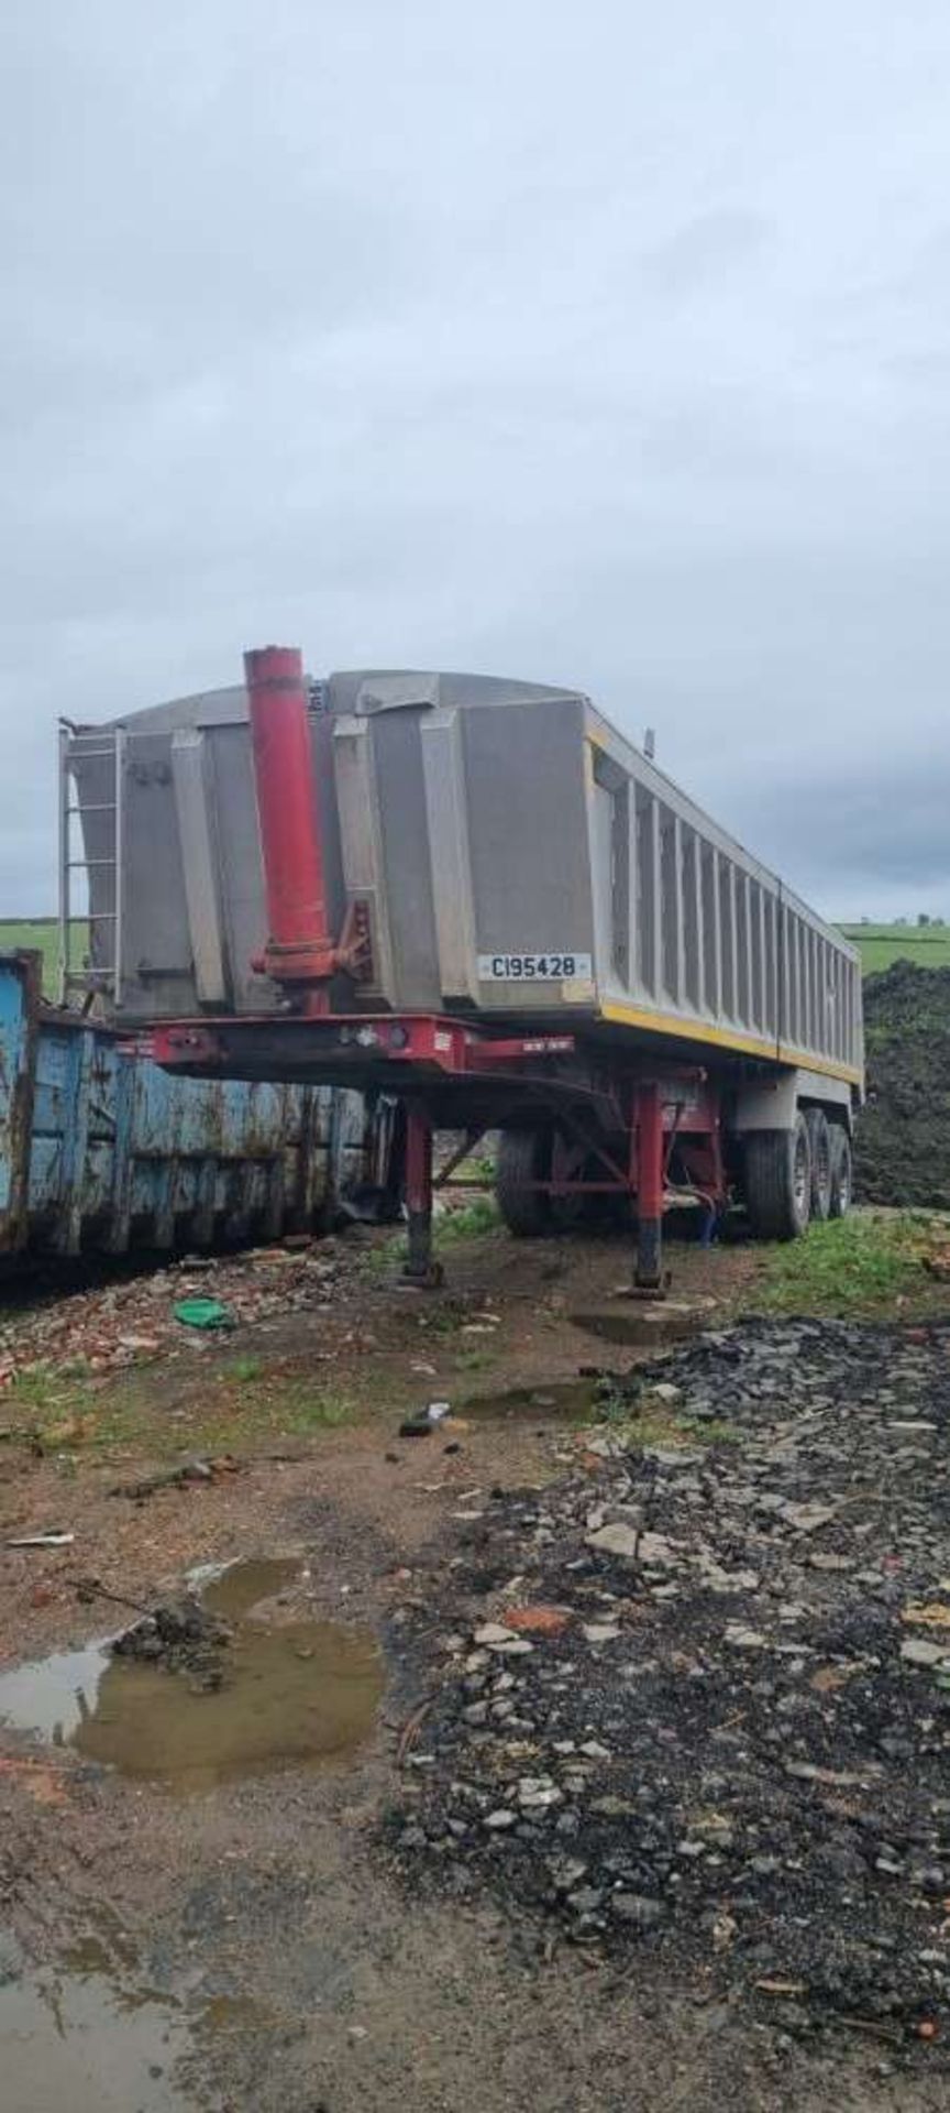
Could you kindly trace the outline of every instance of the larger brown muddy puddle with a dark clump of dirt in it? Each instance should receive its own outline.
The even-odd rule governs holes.
[[[205,1574],[207,1576],[207,1574]],[[116,1659],[110,1638],[0,1676],[0,1726],[36,1733],[122,1775],[209,1790],[287,1766],[338,1766],[369,1737],[384,1665],[369,1629],[262,1621],[300,1564],[232,1564],[192,1578],[232,1627],[211,1693],[188,1673]]]

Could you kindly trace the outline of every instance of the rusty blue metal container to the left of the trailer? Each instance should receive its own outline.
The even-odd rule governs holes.
[[[0,955],[0,1257],[209,1247],[319,1228],[374,1179],[357,1092],[171,1078]]]

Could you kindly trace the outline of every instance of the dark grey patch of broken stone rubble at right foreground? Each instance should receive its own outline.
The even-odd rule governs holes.
[[[680,1443],[638,1450],[659,1405]],[[397,1862],[783,2028],[939,2043],[950,1329],[749,1321],[606,1411],[581,1477],[464,1526],[420,1616]]]

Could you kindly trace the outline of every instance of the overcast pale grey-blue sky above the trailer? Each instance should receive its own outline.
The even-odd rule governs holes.
[[[587,689],[830,915],[950,915],[946,0],[30,0],[0,913],[55,718]]]

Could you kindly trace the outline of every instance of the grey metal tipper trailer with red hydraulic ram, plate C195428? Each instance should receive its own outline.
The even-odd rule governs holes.
[[[771,1238],[847,1209],[855,949],[578,691],[266,647],[61,744],[63,995],[173,1071],[395,1092],[412,1278],[437,1128],[500,1130],[513,1232],[633,1202],[644,1291],[671,1200]]]

